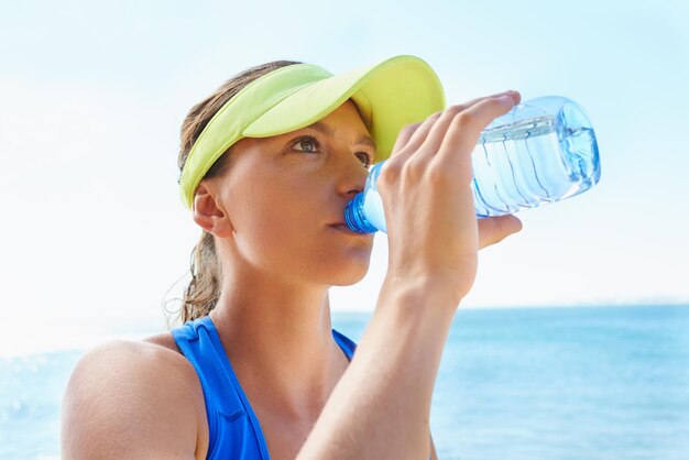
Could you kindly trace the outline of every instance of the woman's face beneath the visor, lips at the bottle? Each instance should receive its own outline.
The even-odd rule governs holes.
[[[351,101],[310,127],[239,141],[217,179],[241,263],[283,280],[360,281],[373,236],[348,230],[343,211],[363,189],[374,154]]]

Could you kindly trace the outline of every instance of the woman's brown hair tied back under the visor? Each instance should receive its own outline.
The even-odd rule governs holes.
[[[200,101],[189,110],[181,130],[179,172],[189,156],[192,146],[204,131],[210,119],[225,103],[233,98],[242,88],[281,67],[302,64],[294,61],[274,61],[251,67],[227,80],[216,92]],[[208,169],[204,178],[222,175],[229,167],[229,150],[226,151]],[[201,237],[192,251],[192,281],[184,291],[178,318],[182,322],[207,316],[216,306],[222,288],[222,267],[216,252],[216,240],[212,234],[201,230]]]

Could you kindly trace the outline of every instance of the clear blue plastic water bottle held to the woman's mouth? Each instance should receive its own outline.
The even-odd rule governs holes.
[[[477,217],[502,216],[579,195],[600,178],[593,128],[570,99],[546,96],[515,106],[482,132],[473,153]],[[385,162],[369,173],[364,190],[344,210],[350,229],[387,232],[376,180]]]

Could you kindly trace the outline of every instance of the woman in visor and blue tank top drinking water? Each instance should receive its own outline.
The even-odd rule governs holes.
[[[422,459],[434,382],[477,251],[521,229],[477,221],[470,153],[515,91],[445,106],[423,61],[332,76],[276,62],[194,107],[181,190],[203,228],[181,328],[100,347],[76,366],[64,459]],[[361,342],[328,289],[361,280],[372,234],[343,223],[368,166],[389,266]]]

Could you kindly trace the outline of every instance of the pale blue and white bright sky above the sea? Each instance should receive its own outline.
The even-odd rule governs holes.
[[[561,95],[598,136],[599,185],[520,212],[462,307],[689,303],[686,1],[0,1],[0,348],[163,324],[199,234],[179,125],[226,79],[400,54],[449,103]],[[374,307],[386,251],[333,310]]]

